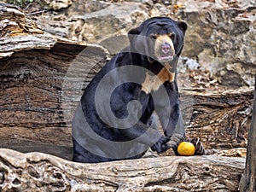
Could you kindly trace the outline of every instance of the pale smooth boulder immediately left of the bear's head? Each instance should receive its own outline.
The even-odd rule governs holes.
[[[148,17],[141,3],[113,3],[89,14],[70,16],[70,32],[73,38],[99,43],[105,38],[125,35],[127,29]]]

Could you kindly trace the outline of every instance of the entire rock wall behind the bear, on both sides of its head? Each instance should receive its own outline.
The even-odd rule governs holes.
[[[160,1],[76,1],[69,9],[37,16],[37,22],[48,32],[103,44],[115,54],[127,45],[125,35],[129,29],[149,17],[171,16],[185,20],[189,29],[183,56],[193,58],[199,63],[198,69],[225,86],[253,85],[256,71],[254,0],[155,2]]]

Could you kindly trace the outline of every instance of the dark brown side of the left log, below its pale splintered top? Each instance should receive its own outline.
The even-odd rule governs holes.
[[[85,56],[90,64],[76,68],[79,73],[70,72],[74,58],[83,57],[84,49],[90,50]],[[90,75],[88,70],[105,63],[105,57],[101,47],[57,43],[50,50],[24,50],[1,59],[0,147],[20,148],[23,143],[27,146],[23,145],[21,151],[26,152],[31,150],[32,143],[54,143],[61,148],[72,148],[72,111],[77,107],[84,84],[88,83],[85,79]],[[84,79],[79,78],[81,73]],[[48,151],[34,148],[42,149]]]

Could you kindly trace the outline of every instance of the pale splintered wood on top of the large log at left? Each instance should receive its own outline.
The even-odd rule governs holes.
[[[57,38],[41,30],[17,7],[0,4],[0,58],[26,49],[49,49]]]

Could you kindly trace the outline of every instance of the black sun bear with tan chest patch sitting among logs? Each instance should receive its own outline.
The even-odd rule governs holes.
[[[73,117],[73,161],[137,159],[148,148],[157,153],[173,148],[177,154],[185,131],[176,68],[186,30],[183,21],[154,17],[128,32],[130,46],[84,90]]]

